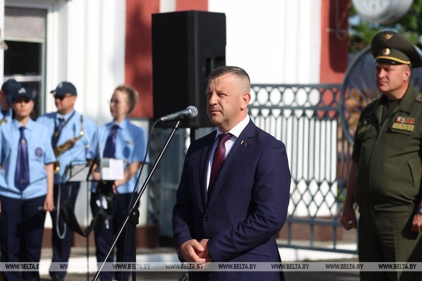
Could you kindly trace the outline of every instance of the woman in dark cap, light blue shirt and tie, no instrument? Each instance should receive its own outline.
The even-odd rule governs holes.
[[[0,128],[0,261],[39,262],[46,212],[54,209],[54,152],[48,129],[31,119],[31,90],[12,96],[15,118]],[[31,168],[31,169],[29,169]],[[19,272],[3,271],[5,280]],[[39,280],[38,271],[23,271],[23,280]]]

